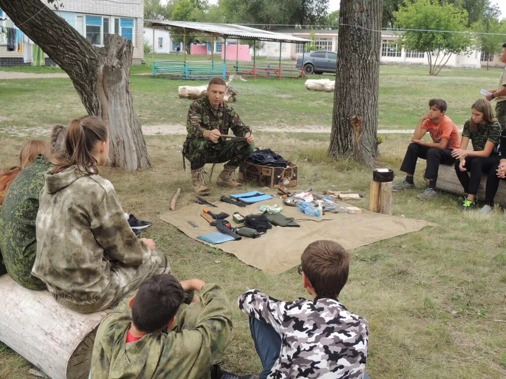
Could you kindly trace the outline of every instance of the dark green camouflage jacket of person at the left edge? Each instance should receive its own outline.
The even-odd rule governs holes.
[[[52,167],[43,155],[25,167],[9,187],[0,212],[0,250],[7,272],[30,290],[46,289],[46,283],[34,277],[31,270],[37,251],[38,196],[44,187],[44,173]]]

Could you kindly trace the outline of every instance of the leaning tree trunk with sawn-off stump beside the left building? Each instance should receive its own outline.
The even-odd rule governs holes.
[[[130,92],[132,41],[110,34],[97,48],[40,0],[0,0],[0,8],[69,75],[88,114],[108,124],[111,164],[149,168]]]

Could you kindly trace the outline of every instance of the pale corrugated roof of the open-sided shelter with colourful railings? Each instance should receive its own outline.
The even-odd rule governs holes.
[[[224,38],[234,37],[242,39],[259,39],[264,41],[277,42],[299,42],[308,43],[309,39],[293,37],[291,35],[274,33],[267,30],[249,28],[247,26],[235,24],[209,24],[205,22],[190,21],[162,21],[162,20],[144,20],[146,25],[160,26],[164,28],[179,28],[192,31],[209,33],[209,35],[220,36]]]

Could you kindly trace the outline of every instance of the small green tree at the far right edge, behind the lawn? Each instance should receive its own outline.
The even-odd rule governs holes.
[[[499,21],[496,18],[486,19],[475,22],[471,25],[471,29],[477,33],[491,33],[491,34],[476,34],[477,46],[485,53],[487,60],[487,70],[489,57],[500,53],[502,44],[504,43],[504,35],[497,35],[498,33],[506,34],[506,19]]]

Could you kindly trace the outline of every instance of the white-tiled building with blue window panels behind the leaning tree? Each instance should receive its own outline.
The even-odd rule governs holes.
[[[47,0],[41,0],[41,4],[48,6],[94,45],[103,46],[105,35],[109,33],[119,34],[134,43],[133,64],[140,64],[144,58],[143,0],[73,0],[63,2],[64,8],[61,10],[55,10]],[[15,27],[0,10],[2,26]],[[47,64],[51,62],[46,58]],[[24,65],[23,53],[7,51],[7,42],[0,42],[0,66],[15,65]]]

